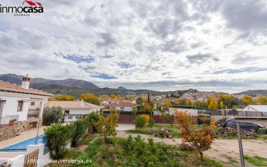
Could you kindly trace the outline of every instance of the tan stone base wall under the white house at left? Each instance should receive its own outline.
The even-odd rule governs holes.
[[[17,125],[0,128],[0,141],[16,137],[17,133],[22,131],[29,130],[29,123],[37,122],[38,127],[38,118],[29,118],[27,121],[18,121]],[[40,126],[42,126],[43,118],[40,118]]]

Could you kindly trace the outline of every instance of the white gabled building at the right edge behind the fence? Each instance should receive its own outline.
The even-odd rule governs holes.
[[[239,112],[243,116],[267,116],[267,105],[248,105]]]

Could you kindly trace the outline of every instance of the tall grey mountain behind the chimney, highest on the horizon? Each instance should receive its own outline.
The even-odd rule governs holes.
[[[21,85],[22,75],[17,74],[0,74],[0,80],[10,83],[15,83]],[[93,84],[92,82],[78,80],[78,79],[63,79],[63,80],[51,80],[51,79],[44,79],[44,78],[32,78],[30,82],[30,87],[32,88],[41,88],[50,85],[58,85],[63,87],[76,87],[79,89],[100,89],[97,85]]]

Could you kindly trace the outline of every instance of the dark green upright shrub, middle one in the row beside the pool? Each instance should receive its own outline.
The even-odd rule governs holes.
[[[81,139],[83,139],[84,134],[85,134],[85,123],[84,120],[77,120],[73,122],[73,137],[71,141],[71,146],[76,147]]]

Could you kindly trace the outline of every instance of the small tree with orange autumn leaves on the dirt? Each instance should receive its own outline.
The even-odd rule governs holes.
[[[196,151],[200,153],[200,160],[203,162],[203,153],[211,149],[211,144],[214,142],[214,127],[215,122],[211,120],[210,126],[202,124],[200,130],[196,130],[195,122],[184,111],[176,112],[177,121],[182,132],[184,143],[189,143]],[[206,119],[206,118],[204,118]],[[206,122],[206,120],[203,120]]]

